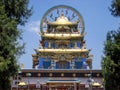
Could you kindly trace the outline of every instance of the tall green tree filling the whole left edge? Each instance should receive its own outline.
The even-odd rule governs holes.
[[[21,30],[31,15],[28,0],[0,0],[0,90],[10,90],[10,77],[18,72],[17,57],[24,53]]]

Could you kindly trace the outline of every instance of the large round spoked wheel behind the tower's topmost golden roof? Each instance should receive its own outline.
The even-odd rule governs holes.
[[[60,17],[62,16],[64,16],[63,22],[78,23],[76,29],[79,30],[81,34],[84,33],[84,21],[81,14],[76,9],[66,5],[52,7],[43,15],[40,24],[40,33],[47,32],[49,28],[47,23],[59,23]]]

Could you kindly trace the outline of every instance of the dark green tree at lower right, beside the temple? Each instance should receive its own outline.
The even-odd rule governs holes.
[[[120,28],[109,31],[104,45],[102,72],[106,90],[120,90]]]

